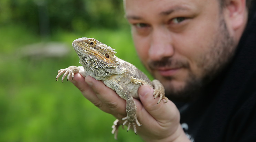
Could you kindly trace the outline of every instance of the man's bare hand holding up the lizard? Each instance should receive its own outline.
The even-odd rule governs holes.
[[[119,120],[126,116],[126,101],[115,91],[108,88],[102,81],[91,76],[84,78],[76,73],[71,81],[99,109],[112,114]],[[180,125],[180,113],[171,102],[157,104],[153,97],[153,88],[142,85],[139,90],[140,101],[137,105],[137,118],[142,126],[137,127],[137,133],[145,141],[189,141]]]

